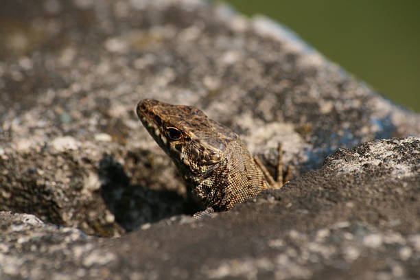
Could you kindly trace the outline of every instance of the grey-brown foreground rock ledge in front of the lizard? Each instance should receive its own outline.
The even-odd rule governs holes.
[[[415,137],[338,150],[320,170],[229,212],[176,216],[114,239],[3,212],[0,276],[418,279],[419,150]]]

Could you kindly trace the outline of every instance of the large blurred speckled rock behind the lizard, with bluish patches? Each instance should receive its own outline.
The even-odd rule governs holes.
[[[420,132],[419,115],[280,25],[224,6],[4,1],[0,13],[5,211],[102,236],[193,213],[133,112],[145,97],[197,106],[271,166],[281,142],[295,176],[338,148]]]

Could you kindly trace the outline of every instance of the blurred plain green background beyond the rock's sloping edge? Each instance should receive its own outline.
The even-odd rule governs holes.
[[[225,0],[265,14],[397,104],[420,112],[419,0]]]

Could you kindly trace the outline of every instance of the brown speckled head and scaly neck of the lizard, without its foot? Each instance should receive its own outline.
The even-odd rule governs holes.
[[[206,207],[226,211],[269,188],[235,132],[202,110],[146,99],[137,115]]]

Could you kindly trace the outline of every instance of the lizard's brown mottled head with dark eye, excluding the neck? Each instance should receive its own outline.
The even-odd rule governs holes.
[[[209,119],[194,106],[141,100],[137,115],[185,178],[207,177],[224,160],[235,132]]]

